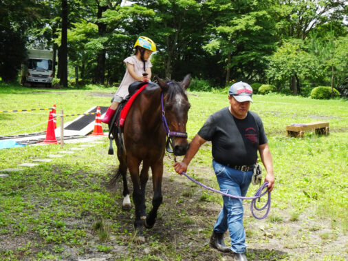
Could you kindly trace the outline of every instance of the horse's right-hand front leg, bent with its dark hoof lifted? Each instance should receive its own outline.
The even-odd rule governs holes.
[[[152,209],[146,217],[144,226],[151,229],[155,225],[157,218],[157,210],[162,204],[162,176],[163,176],[163,160],[151,166],[152,182],[153,182],[153,198]]]

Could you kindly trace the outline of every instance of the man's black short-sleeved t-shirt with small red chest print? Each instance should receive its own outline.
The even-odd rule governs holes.
[[[198,135],[212,142],[213,158],[223,165],[253,165],[259,145],[268,143],[259,115],[235,118],[228,107],[210,115]]]

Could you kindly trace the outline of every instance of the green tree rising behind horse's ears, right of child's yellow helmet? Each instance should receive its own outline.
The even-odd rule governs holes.
[[[151,9],[155,17],[149,20],[149,36],[157,44],[158,63],[164,67],[167,79],[177,77],[175,63],[190,56],[188,50],[197,50],[205,21],[202,3],[195,0],[137,1],[138,5]],[[199,35],[200,34],[200,35]],[[191,52],[190,52],[191,54]],[[187,61],[186,61],[187,63]],[[172,75],[174,74],[174,75]]]

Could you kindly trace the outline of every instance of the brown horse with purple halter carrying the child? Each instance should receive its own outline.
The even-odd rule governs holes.
[[[175,81],[166,83],[158,78],[157,82],[158,85],[146,86],[133,101],[122,127],[122,148],[119,140],[115,139],[120,166],[113,180],[122,175],[124,196],[122,209],[130,209],[127,185],[127,169],[129,169],[135,205],[134,227],[140,242],[144,242],[142,226],[153,227],[157,209],[162,203],[161,186],[166,138],[168,138],[167,145],[171,145],[175,155],[184,155],[188,149],[186,122],[191,105],[188,103],[185,90],[191,82],[191,76],[186,75],[182,83]],[[118,136],[116,129],[113,127],[113,137]],[[122,154],[119,153],[120,149]],[[146,216],[145,187],[150,167],[153,180],[153,207]]]

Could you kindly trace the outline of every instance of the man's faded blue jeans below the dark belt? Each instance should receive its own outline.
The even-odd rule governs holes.
[[[246,196],[252,171],[232,169],[213,160],[213,168],[219,183],[220,191],[233,196]],[[214,231],[225,233],[230,231],[231,249],[235,253],[246,252],[246,231],[243,227],[243,200],[222,196],[222,207]]]

